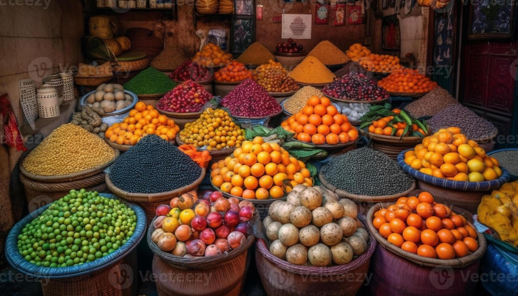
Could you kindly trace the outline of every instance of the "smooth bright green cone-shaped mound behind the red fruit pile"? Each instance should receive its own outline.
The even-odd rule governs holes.
[[[148,67],[124,84],[124,89],[136,94],[162,94],[177,86],[177,83],[164,73]]]

